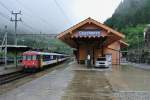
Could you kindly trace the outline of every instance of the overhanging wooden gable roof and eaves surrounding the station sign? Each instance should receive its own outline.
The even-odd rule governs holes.
[[[98,30],[102,30],[102,34],[99,36],[86,36],[86,37],[81,37],[76,35],[76,33],[83,29],[84,26],[94,26],[97,27]],[[84,21],[74,25],[73,27],[67,29],[66,31],[60,33],[57,38],[60,39],[61,41],[65,42],[66,44],[70,45],[73,48],[77,48],[77,43],[74,41],[74,38],[80,38],[81,39],[101,39],[102,37],[105,37],[105,41],[103,45],[107,46],[110,45],[111,43],[115,41],[120,41],[125,38],[125,35],[113,30],[112,28],[92,19],[92,18],[87,18]],[[123,46],[127,46],[128,44],[121,41]]]

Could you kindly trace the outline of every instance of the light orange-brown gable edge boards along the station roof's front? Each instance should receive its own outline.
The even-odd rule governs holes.
[[[113,30],[112,28],[110,28],[110,27],[108,27],[108,26],[106,26],[106,25],[103,25],[102,23],[100,23],[100,22],[98,22],[98,21],[96,21],[96,20],[94,20],[94,19],[92,19],[92,18],[90,18],[90,17],[87,18],[87,19],[85,19],[84,21],[82,21],[82,22],[80,22],[80,23],[74,25],[73,27],[67,29],[66,31],[60,33],[60,34],[57,36],[57,38],[59,39],[59,38],[63,37],[63,36],[66,35],[66,34],[72,33],[72,31],[76,30],[77,28],[79,28],[79,27],[81,27],[81,26],[83,26],[83,25],[85,25],[85,24],[87,24],[87,23],[93,23],[93,24],[95,24],[95,25],[97,25],[97,26],[99,26],[99,27],[101,27],[101,28],[107,30],[108,33],[113,33],[114,35],[117,35],[117,36],[119,36],[119,37],[121,37],[121,38],[125,38],[125,35],[124,35],[124,34],[122,34],[122,33],[120,33],[120,32],[117,32],[116,30]]]

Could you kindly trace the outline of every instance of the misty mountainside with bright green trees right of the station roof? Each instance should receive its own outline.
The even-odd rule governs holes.
[[[143,31],[150,23],[150,0],[124,0],[105,24],[123,32],[130,47],[143,42]]]

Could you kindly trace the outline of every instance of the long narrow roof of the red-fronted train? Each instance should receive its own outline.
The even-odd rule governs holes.
[[[63,55],[59,53],[48,53],[48,52],[38,52],[38,51],[26,51],[23,55]]]

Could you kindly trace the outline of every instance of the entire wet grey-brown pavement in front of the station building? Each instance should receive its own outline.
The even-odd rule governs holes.
[[[65,64],[0,95],[0,100],[150,100],[150,72],[130,65],[110,69]]]

